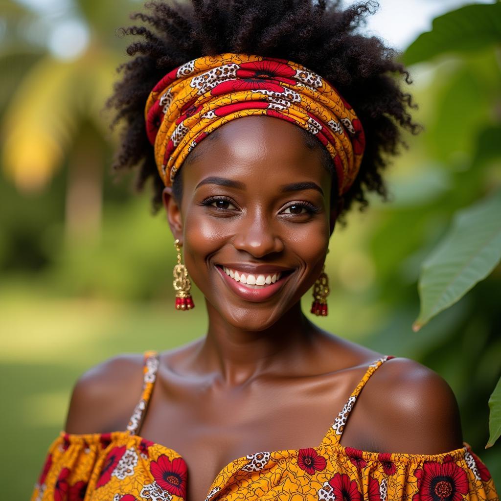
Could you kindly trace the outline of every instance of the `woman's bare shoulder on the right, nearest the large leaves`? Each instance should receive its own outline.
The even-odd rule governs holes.
[[[363,402],[363,403],[362,403]],[[439,454],[462,447],[456,397],[439,374],[408,359],[387,360],[361,393],[381,452]]]

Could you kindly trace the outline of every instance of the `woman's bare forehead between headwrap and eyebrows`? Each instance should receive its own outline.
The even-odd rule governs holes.
[[[311,134],[307,132],[306,134]],[[330,183],[322,165],[322,148],[295,124],[276,117],[249,116],[231,120],[210,133],[189,154],[183,184],[209,175],[246,177],[259,183],[315,180]]]

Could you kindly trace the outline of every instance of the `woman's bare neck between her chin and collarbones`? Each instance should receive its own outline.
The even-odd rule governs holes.
[[[224,385],[241,385],[266,372],[291,374],[291,367],[311,349],[313,324],[298,302],[278,322],[263,331],[228,324],[207,303],[209,328],[195,354],[198,370],[216,373]]]

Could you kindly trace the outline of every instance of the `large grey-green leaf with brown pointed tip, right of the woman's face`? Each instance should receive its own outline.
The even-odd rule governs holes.
[[[423,263],[418,284],[421,311],[414,331],[457,302],[497,265],[500,215],[501,190],[455,215],[450,232]]]

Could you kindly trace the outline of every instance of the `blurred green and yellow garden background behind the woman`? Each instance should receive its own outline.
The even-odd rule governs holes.
[[[499,198],[501,5],[380,4],[367,29],[409,64],[408,91],[424,131],[407,138],[409,149],[389,169],[390,202],[373,198],[369,210],[354,210],[346,228],[336,229],[327,259],[329,316],[314,320],[443,376],[460,406],[464,440],[499,490],[501,441],[484,447],[487,401],[501,375],[501,267],[418,332],[412,325],[422,264],[457,211]],[[133,192],[134,174],[117,179],[110,169],[116,138],[102,108],[129,42],[116,29],[141,6],[2,0],[0,484],[6,499],[29,497],[83,371],[118,353],[165,350],[205,332],[196,290],[199,308],[174,310],[175,255],[165,216],[151,215],[147,190]],[[419,37],[442,15],[449,17]],[[306,312],[310,301],[305,296]]]

